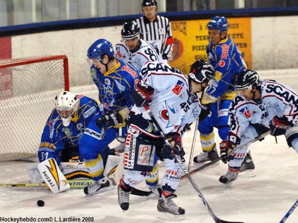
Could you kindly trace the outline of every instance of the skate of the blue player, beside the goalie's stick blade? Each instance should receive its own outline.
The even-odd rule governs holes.
[[[104,177],[101,180],[95,181],[84,188],[84,193],[86,196],[92,196],[95,194],[103,193],[109,190],[113,190],[115,187],[113,186],[112,181],[108,177]]]

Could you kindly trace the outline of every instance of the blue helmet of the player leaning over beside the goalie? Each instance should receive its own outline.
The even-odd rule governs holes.
[[[89,59],[97,58],[100,60],[101,56],[105,54],[109,56],[109,59],[114,57],[113,46],[105,39],[96,40],[87,51],[87,57]]]

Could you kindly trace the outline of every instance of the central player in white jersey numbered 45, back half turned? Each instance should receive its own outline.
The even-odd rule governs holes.
[[[175,162],[174,154],[185,154],[181,136],[185,125],[196,118],[204,118],[196,92],[202,91],[214,78],[214,68],[204,60],[196,61],[189,76],[170,67],[166,63],[148,61],[141,70],[141,81],[132,93],[135,106],[127,116],[128,133],[126,138],[124,168],[127,172],[118,185],[118,201],[121,209],[128,210],[129,194],[132,188],[144,181],[153,168],[154,154],[164,161],[166,172],[163,175],[162,190],[157,210],[161,213],[184,215],[185,210],[177,206],[173,198],[182,169]],[[165,144],[149,114],[143,108],[149,103],[163,132],[172,143]]]

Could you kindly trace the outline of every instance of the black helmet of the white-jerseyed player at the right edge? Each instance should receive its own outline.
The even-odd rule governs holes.
[[[248,88],[252,90],[253,86],[259,87],[261,85],[259,74],[254,70],[243,70],[236,79],[235,87],[237,90]]]

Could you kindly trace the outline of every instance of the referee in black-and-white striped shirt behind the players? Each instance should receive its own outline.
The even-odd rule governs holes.
[[[172,60],[174,40],[168,18],[157,15],[156,0],[143,0],[142,10],[144,16],[136,19],[141,27],[142,38],[148,41],[163,59]]]

